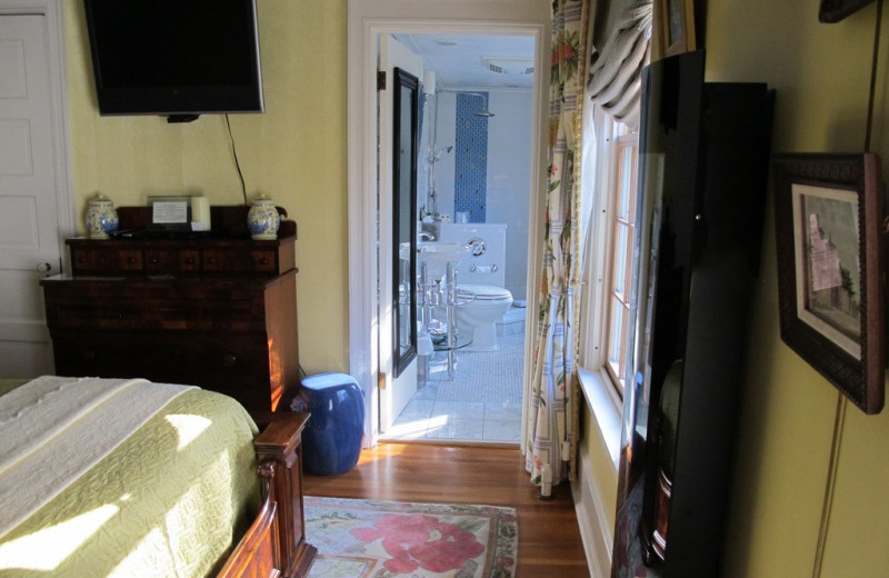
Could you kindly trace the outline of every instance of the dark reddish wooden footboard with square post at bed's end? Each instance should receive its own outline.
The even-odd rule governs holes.
[[[218,578],[301,578],[317,549],[306,542],[301,435],[308,413],[280,413],[253,442],[262,490],[259,516]]]

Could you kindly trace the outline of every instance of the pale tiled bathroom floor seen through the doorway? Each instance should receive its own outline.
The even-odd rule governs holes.
[[[429,380],[383,437],[519,444],[525,335],[497,339],[498,351],[458,351],[450,381],[444,353],[437,352]]]

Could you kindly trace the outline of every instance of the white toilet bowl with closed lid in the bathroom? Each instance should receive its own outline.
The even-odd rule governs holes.
[[[512,307],[512,293],[492,285],[457,285],[457,327],[472,341],[463,351],[497,351],[497,321]]]

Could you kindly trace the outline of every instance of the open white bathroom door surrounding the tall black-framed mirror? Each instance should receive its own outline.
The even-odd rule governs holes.
[[[418,54],[408,50],[389,34],[380,37],[380,69],[386,71],[386,90],[380,92],[380,266],[379,266],[379,287],[380,296],[378,305],[380,307],[380,372],[383,379],[380,382],[380,434],[386,434],[392,427],[392,422],[410,401],[417,391],[417,358],[398,376],[392,378],[393,372],[393,335],[391,330],[383,328],[392,327],[392,271],[398,263],[392,262],[392,122],[393,122],[393,98],[397,89],[394,81],[396,68],[400,68],[418,79],[422,77],[422,60]]]

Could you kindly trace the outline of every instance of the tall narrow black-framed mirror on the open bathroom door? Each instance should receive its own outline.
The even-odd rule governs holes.
[[[394,377],[417,357],[417,153],[419,80],[394,69],[392,111],[392,319]],[[409,248],[402,251],[401,248]]]

